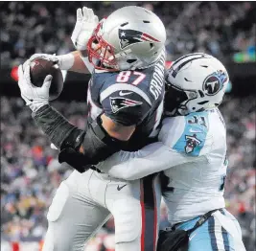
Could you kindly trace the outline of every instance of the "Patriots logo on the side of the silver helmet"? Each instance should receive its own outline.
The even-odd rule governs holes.
[[[142,43],[143,41],[160,42],[150,34],[144,34],[135,30],[118,30],[120,48],[123,50],[131,44]]]

